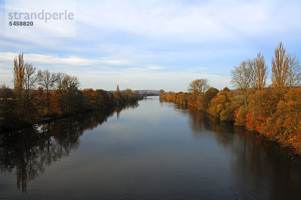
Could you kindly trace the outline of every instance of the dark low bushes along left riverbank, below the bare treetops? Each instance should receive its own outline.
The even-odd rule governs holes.
[[[5,91],[7,90],[7,91]],[[41,123],[48,120],[54,120],[64,118],[70,115],[76,115],[85,112],[95,112],[114,107],[124,107],[128,104],[137,104],[139,100],[143,98],[140,94],[132,93],[130,90],[127,92],[115,92],[111,93],[105,90],[93,90],[84,89],[77,90],[77,95],[74,96],[72,102],[69,102],[68,106],[64,109],[64,101],[58,101],[60,98],[56,96],[56,92],[51,93],[49,106],[43,105],[42,102],[38,101],[39,90],[35,92],[36,98],[31,99],[28,103],[26,101],[15,101],[13,92],[8,88],[1,88],[0,93],[8,93],[9,95],[3,95],[1,101],[6,102],[2,104],[0,109],[0,131],[12,131],[18,130],[22,127],[31,126],[33,124]],[[42,95],[45,94],[42,91]],[[12,97],[13,96],[13,97]],[[46,95],[44,95],[46,97]],[[78,97],[75,100],[75,97]],[[3,106],[7,105],[7,106]],[[6,109],[6,107],[8,109]],[[21,109],[20,109],[21,107]],[[27,107],[24,109],[23,107]],[[30,107],[30,108],[28,108]],[[20,111],[20,110],[21,111]],[[22,114],[22,110],[28,112]],[[6,111],[6,113],[4,112]],[[9,115],[7,114],[9,113]],[[2,117],[3,116],[3,117]]]

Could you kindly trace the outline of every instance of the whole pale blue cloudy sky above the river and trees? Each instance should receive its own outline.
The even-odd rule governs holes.
[[[9,26],[10,12],[73,19]],[[281,41],[301,55],[301,1],[15,1],[0,0],[0,84],[13,84],[19,52],[38,69],[78,77],[80,88],[187,91],[208,78],[218,89],[231,69],[260,51],[268,66]]]

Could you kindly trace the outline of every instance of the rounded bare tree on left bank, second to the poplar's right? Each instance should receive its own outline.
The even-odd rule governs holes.
[[[56,74],[55,73],[51,73],[48,69],[44,69],[39,70],[38,71],[38,80],[39,80],[39,84],[46,89],[46,93],[47,93],[47,105],[49,108],[49,94],[50,94],[50,90],[54,87],[55,82],[56,82]]]

